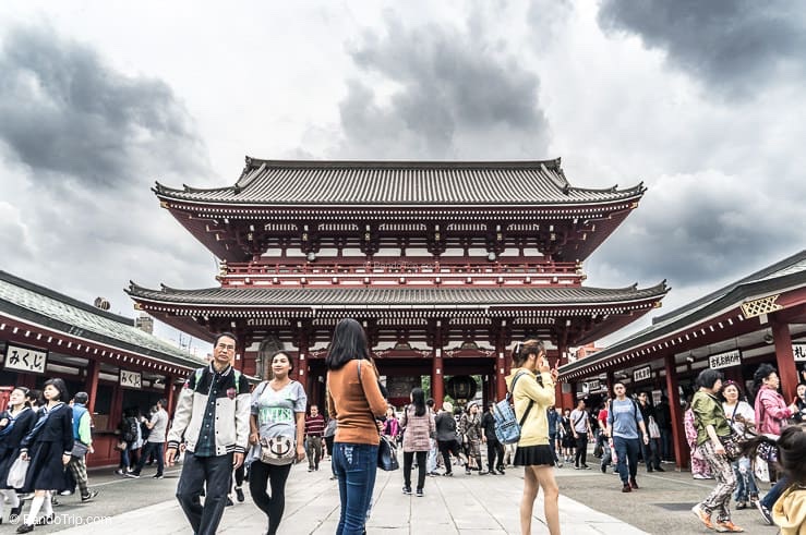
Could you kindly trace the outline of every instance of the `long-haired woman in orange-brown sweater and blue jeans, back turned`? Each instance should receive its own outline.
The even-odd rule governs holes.
[[[341,501],[336,535],[360,535],[377,472],[375,418],[387,406],[361,324],[350,318],[338,323],[325,364],[327,406],[338,421],[332,453]]]

